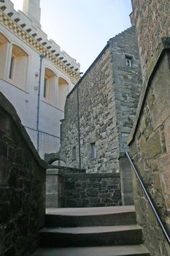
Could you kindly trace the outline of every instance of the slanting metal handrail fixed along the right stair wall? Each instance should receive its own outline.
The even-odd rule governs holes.
[[[161,217],[159,217],[158,212],[156,211],[155,206],[153,205],[152,200],[150,199],[150,195],[148,194],[147,189],[145,189],[144,183],[143,183],[141,177],[139,176],[139,173],[138,173],[138,171],[136,170],[136,167],[134,166],[134,163],[133,163],[132,160],[131,160],[131,157],[129,156],[128,152],[125,152],[125,154],[126,154],[126,156],[128,157],[128,160],[129,160],[129,162],[131,163],[131,166],[132,166],[133,169],[134,169],[134,172],[135,172],[135,174],[136,174],[136,176],[137,176],[137,178],[138,178],[138,180],[139,180],[139,183],[141,184],[142,189],[144,190],[144,194],[146,195],[147,200],[149,201],[150,206],[151,206],[151,208],[152,208],[152,211],[153,211],[153,213],[155,214],[155,217],[156,217],[156,219],[158,220],[158,223],[159,223],[159,225],[161,226],[161,229],[162,229],[162,231],[163,231],[163,234],[164,234],[164,236],[166,237],[166,240],[167,240],[167,242],[169,243],[169,246],[170,246],[170,238],[169,238],[169,234],[168,234],[167,231],[166,231],[166,227],[163,225],[163,221],[161,220]]]

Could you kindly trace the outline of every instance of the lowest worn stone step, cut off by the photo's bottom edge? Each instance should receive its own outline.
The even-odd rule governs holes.
[[[143,245],[40,248],[32,256],[150,256]]]

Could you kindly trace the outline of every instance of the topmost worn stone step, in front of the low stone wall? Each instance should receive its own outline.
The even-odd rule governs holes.
[[[97,208],[47,208],[47,227],[85,227],[136,224],[134,206]]]

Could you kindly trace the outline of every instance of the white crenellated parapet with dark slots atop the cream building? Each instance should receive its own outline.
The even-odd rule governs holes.
[[[31,20],[20,10],[17,12],[14,9],[14,4],[9,0],[5,0],[4,3],[0,2],[0,10],[5,15],[0,17],[4,26],[8,26],[8,29],[11,30],[14,30],[15,27],[15,32],[17,27],[20,31],[25,31],[36,41],[36,44],[41,45],[41,51],[47,54],[48,59],[57,59],[55,62],[60,63],[60,69],[67,72],[72,78],[79,80],[80,63],[77,63],[76,59],[72,59],[65,51],[61,51],[61,48],[52,39],[47,39],[47,34],[42,31],[41,25],[36,20]],[[10,20],[14,26],[11,26]],[[24,40],[24,37],[22,39]]]

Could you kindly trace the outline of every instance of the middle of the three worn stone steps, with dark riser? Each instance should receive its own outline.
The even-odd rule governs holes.
[[[40,232],[40,246],[107,246],[142,244],[138,225],[46,228]]]

